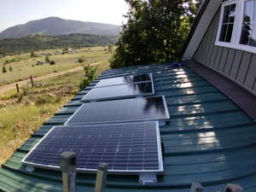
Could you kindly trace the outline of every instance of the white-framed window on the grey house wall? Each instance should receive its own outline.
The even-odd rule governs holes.
[[[216,45],[256,53],[256,0],[222,4]]]

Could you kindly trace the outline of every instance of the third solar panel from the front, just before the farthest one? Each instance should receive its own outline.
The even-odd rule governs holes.
[[[151,82],[139,84],[120,84],[109,87],[91,89],[83,98],[83,102],[96,102],[119,98],[154,95],[154,86]]]

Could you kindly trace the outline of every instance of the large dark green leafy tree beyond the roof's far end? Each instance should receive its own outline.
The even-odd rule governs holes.
[[[125,1],[130,5],[125,15],[128,21],[110,59],[111,67],[177,61],[198,1]]]

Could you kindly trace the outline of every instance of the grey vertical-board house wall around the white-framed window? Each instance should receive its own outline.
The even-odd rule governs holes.
[[[220,9],[214,16],[193,60],[241,84],[256,94],[256,54],[215,45]]]

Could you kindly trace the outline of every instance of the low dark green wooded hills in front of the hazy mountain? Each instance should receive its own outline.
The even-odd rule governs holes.
[[[117,36],[98,36],[90,34],[68,34],[59,36],[30,35],[26,38],[0,39],[0,56],[16,55],[40,49],[82,48],[114,44]]]

